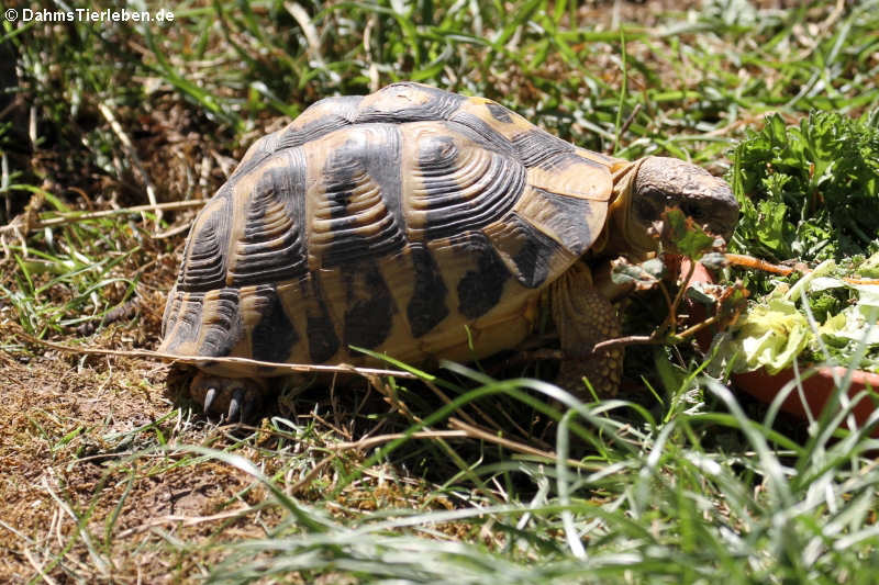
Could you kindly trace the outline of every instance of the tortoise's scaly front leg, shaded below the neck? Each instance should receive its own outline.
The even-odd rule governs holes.
[[[564,355],[556,383],[576,396],[590,398],[583,378],[599,397],[616,394],[623,372],[623,349],[592,351],[596,344],[620,336],[620,317],[592,284],[589,269],[578,262],[553,283],[553,320]]]

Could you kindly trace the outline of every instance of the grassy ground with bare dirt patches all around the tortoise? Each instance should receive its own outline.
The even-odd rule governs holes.
[[[32,378],[4,382],[24,406],[3,410],[0,575],[874,582],[876,418],[856,428],[839,394],[841,412],[791,424],[703,375],[689,348],[632,360],[644,398],[585,404],[449,364],[427,385],[287,397],[234,434],[156,398],[174,385],[157,367],[59,362],[16,337],[155,347],[191,215],[49,220],[147,204],[147,192],[210,196],[249,143],[326,95],[414,79],[496,99],[588,148],[716,173],[769,113],[793,126],[879,102],[877,1],[650,4],[622,2],[617,20],[613,2],[565,0],[180,2],[156,7],[175,12],[163,26],[4,22],[18,74],[0,100],[0,218],[20,220],[0,234],[0,357]],[[34,222],[46,225],[27,232]],[[76,333],[135,289],[137,320]]]

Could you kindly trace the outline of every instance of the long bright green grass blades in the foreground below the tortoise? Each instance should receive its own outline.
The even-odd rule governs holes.
[[[445,483],[422,485],[409,505],[391,499],[393,505],[364,513],[357,498],[380,504],[387,487],[375,474],[388,474],[387,482],[396,473],[380,462],[394,461],[394,448],[420,449],[420,440],[391,443],[366,463],[340,461],[331,485],[312,486],[323,496],[291,497],[287,490],[297,482],[290,477],[313,465],[297,446],[314,449],[323,441],[283,420],[230,441],[224,450],[168,442],[136,451],[111,465],[105,477],[127,485],[138,474],[194,470],[205,458],[246,474],[252,485],[230,498],[227,507],[238,510],[232,518],[246,521],[274,510],[277,519],[264,526],[263,538],[188,543],[165,535],[166,549],[222,554],[221,563],[203,567],[212,583],[281,577],[291,571],[305,582],[322,574],[352,574],[358,582],[486,584],[874,578],[879,474],[869,450],[877,441],[863,431],[831,440],[844,413],[816,424],[800,446],[772,431],[771,420],[752,420],[727,389],[705,379],[669,396],[687,407],[668,413],[664,421],[623,403],[583,405],[533,381],[489,383],[464,393],[457,406],[486,394],[523,400],[523,386],[570,407],[558,426],[558,458],[498,458],[489,446],[477,457],[472,446],[455,443],[459,473]],[[692,392],[704,393],[708,404],[726,412],[685,396]],[[429,421],[441,423],[450,410]],[[588,429],[575,434],[575,423]],[[135,435],[152,431],[137,429]],[[255,452],[272,435],[287,440]],[[571,464],[566,451],[577,435],[594,451]],[[739,437],[741,443],[722,447],[724,435]],[[426,451],[439,458],[442,449],[432,445]],[[270,472],[260,469],[267,464]],[[242,506],[257,488],[264,493],[258,502]],[[125,495],[111,500],[118,509],[127,505]],[[110,504],[104,498],[96,491],[93,507],[80,510],[80,526],[90,524],[93,509]],[[438,498],[454,507],[431,509],[430,502]],[[82,529],[74,539],[92,543],[96,564],[118,562],[114,533],[123,531],[114,520],[104,520],[103,535],[86,538],[89,532]],[[448,537],[448,527],[455,527],[457,538]]]

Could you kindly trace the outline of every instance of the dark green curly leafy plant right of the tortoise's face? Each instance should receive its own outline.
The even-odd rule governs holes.
[[[813,261],[879,250],[879,110],[816,111],[799,126],[775,114],[734,156],[733,251]]]

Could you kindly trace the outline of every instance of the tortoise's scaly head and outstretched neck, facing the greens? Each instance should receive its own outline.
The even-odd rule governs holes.
[[[649,251],[650,226],[666,207],[678,207],[711,234],[728,241],[738,221],[730,185],[705,169],[677,158],[646,157],[620,171],[612,213],[625,246]]]

